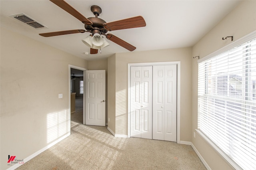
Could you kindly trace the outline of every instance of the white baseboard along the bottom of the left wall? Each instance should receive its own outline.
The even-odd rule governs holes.
[[[61,140],[63,140],[64,138],[68,137],[70,135],[70,132],[64,136],[62,136],[61,138],[59,138],[58,140],[52,142],[51,144],[45,146],[44,148],[38,150],[37,152],[35,152],[34,154],[28,156],[27,158],[24,158],[23,161],[24,163],[28,162],[29,160],[31,160],[32,158],[38,156],[40,153],[44,152],[45,150],[47,150],[48,148],[52,147],[54,144],[57,144],[58,142],[60,142]],[[15,164],[12,165],[10,168],[8,168],[7,170],[15,170],[16,168],[18,168],[19,166],[22,166],[22,164]]]

